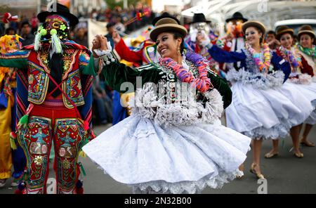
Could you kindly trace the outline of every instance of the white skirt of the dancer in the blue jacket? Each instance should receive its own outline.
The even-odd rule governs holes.
[[[288,135],[291,126],[312,111],[307,100],[300,108],[282,89],[258,89],[251,84],[232,85],[232,103],[226,108],[228,127],[254,139],[277,139]],[[310,105],[310,106],[308,106]],[[303,116],[301,116],[303,115]],[[303,117],[303,118],[302,118]]]

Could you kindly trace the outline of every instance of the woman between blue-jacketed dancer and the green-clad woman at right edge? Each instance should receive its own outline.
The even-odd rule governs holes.
[[[276,53],[278,56],[284,58],[284,60],[287,60],[291,65],[289,79],[287,79],[287,82],[282,86],[280,92],[291,98],[292,102],[295,103],[296,106],[299,106],[300,109],[309,108],[309,104],[307,107],[305,106],[306,101],[309,103],[316,101],[316,83],[312,82],[314,72],[305,58],[298,52],[298,48],[293,46],[293,35],[294,30],[287,26],[279,27],[277,30],[276,38],[281,43],[281,46],[276,49]],[[299,91],[304,99],[301,100],[296,94],[289,96],[290,93],[293,94],[293,91]],[[308,111],[305,112],[308,113]],[[298,158],[303,157],[303,153],[299,150],[299,133],[305,118],[308,116],[309,115],[302,113],[301,116],[296,119],[296,123],[290,130],[295,152],[294,155]],[[273,148],[270,152],[265,154],[265,158],[275,157],[279,154],[279,140],[273,140],[272,144]]]

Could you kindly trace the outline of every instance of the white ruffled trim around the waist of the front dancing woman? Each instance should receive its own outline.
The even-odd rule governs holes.
[[[138,89],[136,96],[131,99],[129,105],[133,108],[133,115],[140,115],[153,119],[158,124],[164,125],[192,125],[198,123],[213,124],[216,122],[224,108],[220,93],[213,89],[204,93],[208,101],[205,107],[197,103],[193,98],[181,103],[166,104],[164,98],[158,98],[151,86]],[[135,108],[136,106],[136,108]]]

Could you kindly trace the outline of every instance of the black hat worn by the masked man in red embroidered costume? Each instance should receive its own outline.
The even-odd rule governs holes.
[[[56,8],[53,8],[53,4],[56,4]],[[37,18],[39,19],[39,22],[45,22],[46,18],[49,15],[62,15],[64,18],[67,18],[67,20],[70,22],[70,26],[75,26],[79,23],[78,18],[70,13],[69,8],[67,6],[64,6],[62,4],[53,3],[48,6],[49,11],[43,11],[37,15]],[[55,9],[55,11],[53,11]]]

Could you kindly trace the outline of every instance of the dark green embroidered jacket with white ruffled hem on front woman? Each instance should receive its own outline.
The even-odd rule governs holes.
[[[119,64],[117,60],[109,62],[113,57],[110,51],[103,56],[105,66],[102,73],[114,90],[136,91],[135,102],[131,102],[132,115],[152,119],[162,125],[214,124],[218,122],[223,108],[231,103],[232,91],[227,82],[210,69],[207,76],[212,87],[201,93],[190,84],[180,82],[168,65],[159,62],[131,68]],[[199,76],[197,66],[189,60],[184,60],[183,65],[194,77]]]

